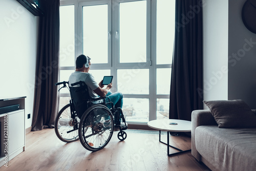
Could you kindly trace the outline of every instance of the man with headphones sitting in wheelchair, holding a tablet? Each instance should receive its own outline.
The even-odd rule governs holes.
[[[109,90],[112,88],[112,83],[108,84],[105,89],[103,89],[102,80],[97,83],[92,76],[92,74],[89,73],[90,66],[91,66],[91,58],[85,55],[79,55],[76,58],[76,70],[73,72],[69,77],[69,86],[71,86],[71,83],[78,82],[78,81],[84,81],[87,84],[89,95],[91,98],[95,99],[100,97],[105,97],[105,102],[112,102],[115,106],[115,109],[122,108],[123,105],[123,95],[122,93],[115,92],[112,93]],[[97,101],[94,103],[98,103]],[[110,109],[111,105],[107,104],[107,107]],[[114,113],[114,131],[118,131],[119,128],[124,129],[125,123],[121,122],[120,113],[115,111]],[[107,126],[110,123],[110,118],[105,118],[104,125]],[[127,125],[127,124],[126,124]]]

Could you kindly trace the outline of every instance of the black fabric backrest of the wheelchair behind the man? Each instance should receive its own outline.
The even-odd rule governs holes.
[[[71,86],[79,84],[79,87],[69,87],[70,96],[73,101],[77,116],[82,117],[83,113],[88,109],[88,100],[91,99],[87,84],[83,81],[72,83]]]

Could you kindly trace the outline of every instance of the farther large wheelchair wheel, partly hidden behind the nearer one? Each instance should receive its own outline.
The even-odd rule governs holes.
[[[80,119],[78,117],[75,119],[71,118],[70,104],[65,105],[59,111],[55,119],[54,130],[57,137],[63,142],[73,142],[78,140],[79,121]]]

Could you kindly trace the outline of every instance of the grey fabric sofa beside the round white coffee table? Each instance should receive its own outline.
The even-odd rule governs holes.
[[[231,108],[233,113],[238,113],[234,115],[234,120],[238,121],[231,119],[237,125],[223,127],[211,107],[191,113],[191,154],[211,170],[256,170],[256,110],[247,109],[251,112],[248,117],[243,115],[246,112],[241,113],[241,106]]]

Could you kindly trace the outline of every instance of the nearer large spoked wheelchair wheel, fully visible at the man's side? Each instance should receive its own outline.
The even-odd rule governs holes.
[[[110,122],[106,124],[106,120]],[[82,115],[78,131],[79,140],[82,146],[89,151],[98,151],[109,143],[113,130],[112,113],[106,106],[96,104]]]

